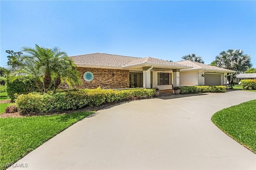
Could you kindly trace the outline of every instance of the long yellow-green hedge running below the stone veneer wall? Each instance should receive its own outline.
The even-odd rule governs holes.
[[[98,106],[102,103],[120,102],[132,99],[153,97],[155,89],[102,90],[79,89],[58,90],[55,94],[40,94],[37,92],[19,95],[16,106],[21,113],[48,113],[68,109],[78,109],[86,106]]]

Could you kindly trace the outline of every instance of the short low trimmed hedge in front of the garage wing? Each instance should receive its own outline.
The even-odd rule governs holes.
[[[224,93],[226,91],[225,86],[184,86],[179,87],[181,94],[187,93]]]

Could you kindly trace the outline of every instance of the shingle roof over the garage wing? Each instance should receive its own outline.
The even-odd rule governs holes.
[[[186,70],[208,69],[208,70],[225,71],[225,72],[229,71],[230,73],[235,72],[235,71],[232,71],[232,70],[229,70],[229,69],[223,69],[223,68],[220,68],[220,67],[216,67],[216,66],[212,66],[212,65],[207,65],[207,64],[203,64],[203,63],[198,63],[198,62],[195,62],[195,61],[189,61],[189,60],[178,61],[178,62],[175,62],[175,63],[193,67],[191,69],[186,69]]]

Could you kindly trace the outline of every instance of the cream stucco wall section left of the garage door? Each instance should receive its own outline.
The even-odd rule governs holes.
[[[181,71],[180,86],[198,85],[198,71]]]

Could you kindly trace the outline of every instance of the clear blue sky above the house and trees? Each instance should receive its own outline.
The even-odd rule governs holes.
[[[60,47],[68,55],[110,53],[210,64],[243,49],[256,67],[256,1],[0,1],[0,66],[6,49]]]

